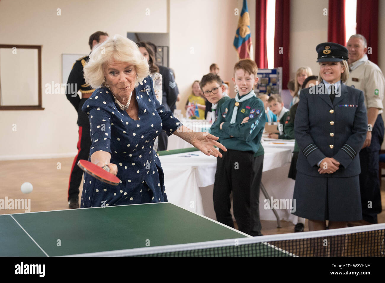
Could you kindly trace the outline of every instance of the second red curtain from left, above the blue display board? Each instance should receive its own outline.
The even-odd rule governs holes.
[[[275,1],[274,67],[282,67],[282,87],[289,81],[290,0]]]

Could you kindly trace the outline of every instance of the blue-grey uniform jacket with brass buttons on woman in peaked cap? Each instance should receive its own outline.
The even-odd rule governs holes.
[[[361,90],[340,85],[333,104],[323,83],[301,90],[294,133],[300,147],[296,169],[317,177],[360,174],[360,152],[368,130]],[[333,174],[320,174],[317,163],[325,157],[340,162]],[[311,185],[311,184],[309,184]]]

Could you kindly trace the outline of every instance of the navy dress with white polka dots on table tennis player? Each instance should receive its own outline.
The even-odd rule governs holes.
[[[96,89],[82,107],[90,120],[90,156],[95,151],[110,152],[121,183],[112,186],[84,173],[81,208],[167,201],[161,162],[153,146],[160,131],[170,136],[182,123],[158,102],[151,77],[134,94],[139,120],[122,111],[106,87]]]

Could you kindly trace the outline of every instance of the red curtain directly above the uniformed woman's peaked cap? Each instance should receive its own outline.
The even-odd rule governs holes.
[[[346,46],[345,0],[329,0],[328,42],[334,42]]]

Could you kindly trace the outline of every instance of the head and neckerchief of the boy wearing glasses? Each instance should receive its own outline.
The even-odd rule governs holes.
[[[211,121],[214,123],[218,117],[218,109],[223,102],[229,100],[230,97],[226,94],[225,87],[219,75],[209,73],[204,75],[199,82],[199,86],[203,91],[204,97],[213,105],[211,106]],[[210,117],[208,117],[209,119]]]

